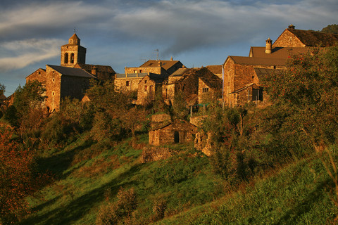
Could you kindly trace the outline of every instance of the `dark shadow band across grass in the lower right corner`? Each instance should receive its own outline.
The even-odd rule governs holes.
[[[275,224],[297,224],[299,217],[307,212],[311,211],[311,207],[314,203],[323,200],[323,193],[325,193],[325,187],[334,186],[330,179],[320,182],[314,191],[308,194],[308,197],[303,202],[294,205],[291,210],[287,210],[280,220]]]

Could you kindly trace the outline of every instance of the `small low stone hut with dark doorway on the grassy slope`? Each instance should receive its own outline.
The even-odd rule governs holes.
[[[170,143],[186,143],[194,141],[197,132],[196,126],[185,120],[175,120],[163,127],[157,127],[149,131],[149,144],[161,146]]]

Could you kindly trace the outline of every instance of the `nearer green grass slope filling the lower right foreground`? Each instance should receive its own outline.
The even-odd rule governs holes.
[[[332,189],[320,160],[301,160],[158,224],[334,224]]]

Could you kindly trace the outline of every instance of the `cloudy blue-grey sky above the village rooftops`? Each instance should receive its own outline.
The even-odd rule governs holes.
[[[187,68],[249,56],[290,25],[322,30],[338,24],[337,0],[1,0],[0,84],[13,94],[46,64],[60,65],[74,30],[86,63],[115,72],[146,60],[180,60]]]

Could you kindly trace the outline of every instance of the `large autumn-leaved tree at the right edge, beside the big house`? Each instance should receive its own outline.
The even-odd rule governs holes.
[[[338,47],[313,49],[290,56],[287,70],[263,82],[273,108],[287,109],[281,129],[289,136],[302,136],[311,143],[334,181],[338,198],[338,174],[334,150],[338,141]],[[338,200],[334,201],[338,206]]]

